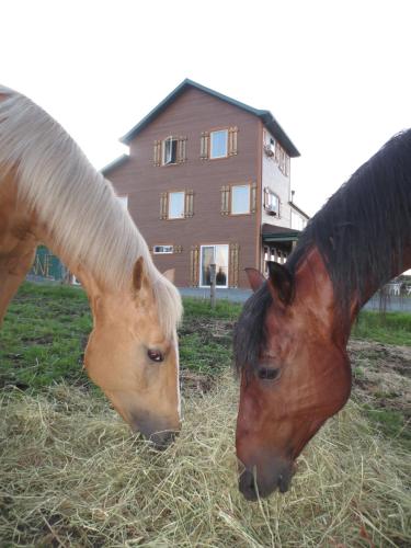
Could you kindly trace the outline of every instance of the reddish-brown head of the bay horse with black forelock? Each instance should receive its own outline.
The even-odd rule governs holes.
[[[343,328],[334,321],[331,282],[322,263],[316,277],[311,266],[307,261],[292,275],[270,263],[267,281],[248,269],[255,293],[235,341],[239,487],[248,500],[288,489],[296,457],[350,395],[346,339],[338,335]]]

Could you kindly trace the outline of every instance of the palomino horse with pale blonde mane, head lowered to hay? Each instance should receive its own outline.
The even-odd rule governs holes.
[[[133,430],[165,446],[180,429],[179,293],[76,142],[28,99],[0,87],[0,321],[38,242],[88,294],[91,379]]]

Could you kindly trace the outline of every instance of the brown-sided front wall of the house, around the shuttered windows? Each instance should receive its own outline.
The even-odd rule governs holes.
[[[202,132],[232,126],[238,127],[238,155],[201,160]],[[170,135],[187,138],[187,161],[155,167],[153,142]],[[160,271],[175,269],[178,286],[190,285],[192,246],[239,243],[238,285],[248,287],[243,270],[259,266],[260,216],[256,213],[222,216],[220,191],[222,185],[260,182],[260,136],[258,117],[199,90],[189,89],[130,142],[129,159],[105,173],[117,194],[128,196],[128,210],[150,248],[156,244],[182,247],[181,253],[153,255]],[[194,191],[193,217],[161,220],[161,193],[184,190]],[[259,203],[260,199],[259,195]]]

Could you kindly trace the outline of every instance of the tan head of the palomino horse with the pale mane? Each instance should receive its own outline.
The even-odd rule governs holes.
[[[165,447],[180,430],[176,326],[165,333],[142,258],[122,292],[91,287],[87,275],[81,282],[94,318],[84,356],[89,376],[134,431]],[[163,276],[157,283],[176,292]],[[180,297],[174,300],[180,307]]]

